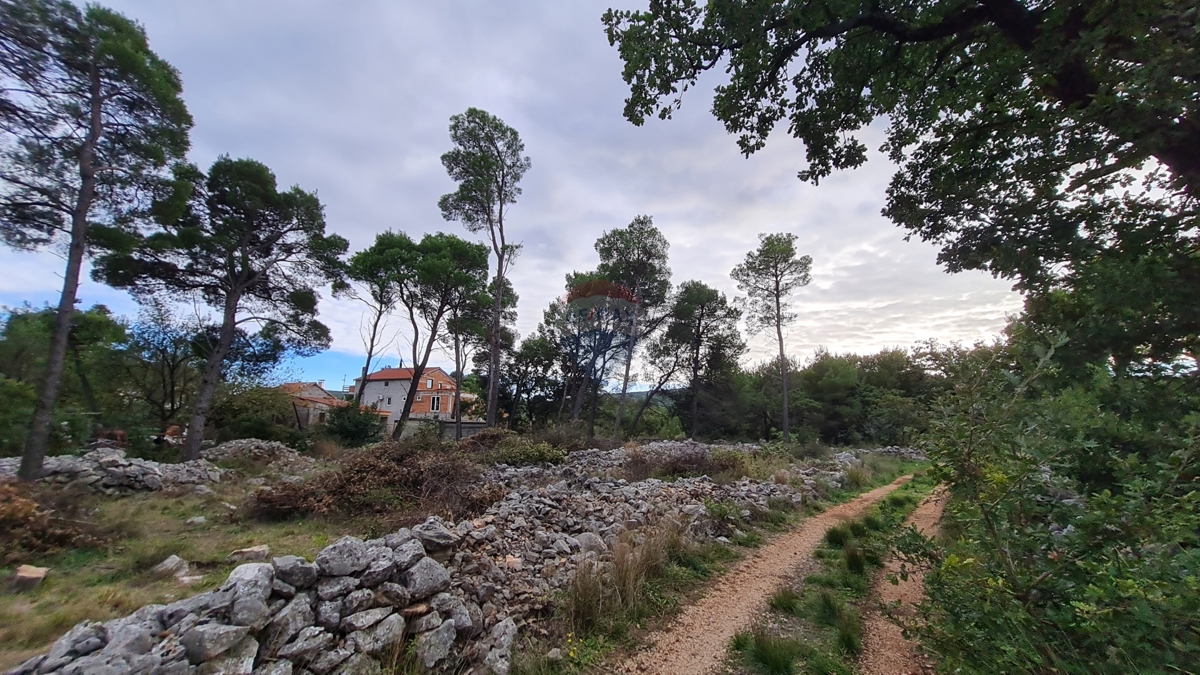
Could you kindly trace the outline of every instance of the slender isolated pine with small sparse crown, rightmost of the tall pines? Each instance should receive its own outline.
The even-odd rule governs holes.
[[[758,249],[746,253],[745,261],[733,268],[730,276],[738,282],[738,291],[749,295],[746,324],[751,334],[774,329],[779,344],[779,380],[784,392],[784,442],[792,442],[787,418],[787,354],[784,352],[784,327],[796,321],[792,293],[812,281],[809,271],[812,258],[796,255],[796,235],[760,234]]]

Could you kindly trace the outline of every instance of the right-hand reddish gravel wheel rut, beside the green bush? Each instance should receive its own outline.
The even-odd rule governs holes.
[[[938,490],[912,512],[908,524],[922,534],[931,537],[937,530],[938,520],[942,519],[944,507],[946,494]],[[916,574],[910,574],[907,580],[901,580],[899,585],[890,584],[887,575],[899,572],[900,565],[889,561],[875,583],[871,596],[877,603],[871,603],[875,609],[865,613],[863,656],[858,661],[863,675],[926,675],[934,671],[932,663],[918,653],[914,643],[905,639],[900,626],[878,610],[880,604],[899,601],[900,608],[896,611],[900,616],[916,615],[914,605],[925,595],[924,574],[918,571]]]

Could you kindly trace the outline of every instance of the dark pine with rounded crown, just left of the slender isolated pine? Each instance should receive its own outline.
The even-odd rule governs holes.
[[[701,281],[679,285],[666,334],[686,354],[684,372],[690,388],[692,438],[698,429],[701,384],[724,368],[736,365],[745,352],[738,334],[740,318],[742,310],[731,305],[716,288]]]

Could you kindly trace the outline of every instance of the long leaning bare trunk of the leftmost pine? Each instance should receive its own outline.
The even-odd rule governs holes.
[[[59,295],[59,310],[54,319],[54,336],[50,339],[50,353],[46,359],[46,377],[37,393],[37,407],[34,420],[25,438],[25,452],[20,458],[18,476],[22,480],[35,480],[42,473],[42,460],[50,441],[50,423],[54,419],[54,404],[59,398],[59,384],[62,382],[62,369],[67,357],[67,339],[71,335],[71,321],[74,318],[76,295],[79,292],[79,270],[83,268],[83,256],[88,250],[88,213],[96,196],[96,144],[104,131],[101,118],[100,73],[91,70],[91,110],[88,137],[79,149],[79,193],[71,213],[71,244],[67,249],[67,268],[62,274],[62,294]]]

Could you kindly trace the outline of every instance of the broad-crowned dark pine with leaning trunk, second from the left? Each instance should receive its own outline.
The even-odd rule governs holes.
[[[275,174],[253,160],[222,156],[208,175],[181,167],[155,213],[161,228],[127,238],[97,259],[95,274],[137,295],[200,300],[221,312],[187,426],[182,458],[191,460],[200,456],[212,395],[239,327],[263,325],[300,353],[329,344],[329,329],[316,319],[316,287],[336,279],[347,241],[325,234],[316,195],[278,191]]]

